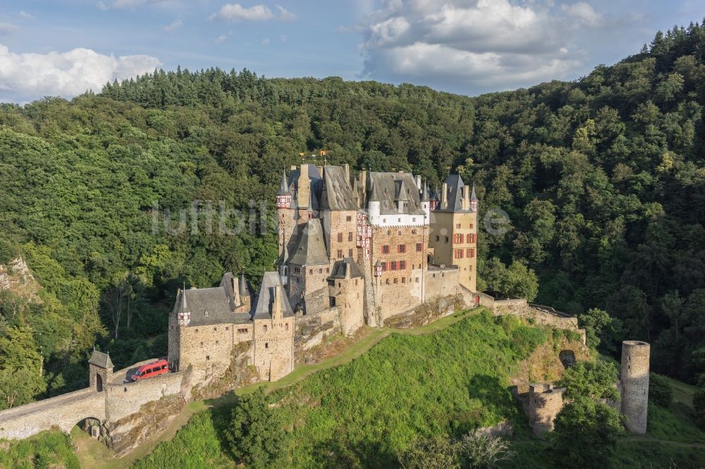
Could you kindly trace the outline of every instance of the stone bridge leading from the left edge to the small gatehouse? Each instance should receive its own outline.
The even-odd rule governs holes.
[[[51,427],[63,432],[84,418],[105,420],[104,392],[90,387],[0,412],[0,438],[22,439]]]

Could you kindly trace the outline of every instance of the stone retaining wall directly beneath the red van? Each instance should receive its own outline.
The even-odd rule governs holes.
[[[127,369],[115,373],[119,375]],[[106,420],[116,422],[127,415],[135,413],[140,406],[149,401],[156,401],[164,396],[182,393],[182,380],[185,371],[164,373],[147,380],[127,382],[123,384],[107,384],[105,387]]]

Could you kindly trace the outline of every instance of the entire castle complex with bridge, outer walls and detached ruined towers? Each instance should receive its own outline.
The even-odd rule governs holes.
[[[279,380],[327,337],[382,326],[431,299],[462,299],[574,330],[584,344],[576,318],[476,292],[477,211],[474,187],[458,175],[431,193],[409,173],[352,177],[347,165],[292,167],[276,193],[277,270],[264,273],[257,294],[232,273],[218,287],[180,289],[168,318],[172,373],[130,382],[134,367],[147,362],[114,372],[109,355],[93,351],[89,387],[0,411],[0,438],[50,427],[70,432],[83,421],[112,449],[128,451],[228,373],[242,378],[229,389]],[[623,354],[622,411],[632,432],[644,432],[648,344],[625,342]],[[537,431],[553,428],[562,405],[561,389],[532,386]]]

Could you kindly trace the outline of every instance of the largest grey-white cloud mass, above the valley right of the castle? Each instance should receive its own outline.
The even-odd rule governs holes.
[[[383,0],[357,25],[361,75],[477,91],[567,77],[580,51],[566,54],[566,14],[545,2]]]

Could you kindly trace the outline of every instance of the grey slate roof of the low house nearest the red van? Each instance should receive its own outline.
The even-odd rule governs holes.
[[[185,294],[185,301],[188,303],[188,311],[191,313],[189,327],[228,323],[242,324],[250,320],[249,313],[233,313],[230,300],[223,287],[184,290],[183,294]]]

